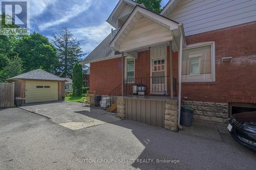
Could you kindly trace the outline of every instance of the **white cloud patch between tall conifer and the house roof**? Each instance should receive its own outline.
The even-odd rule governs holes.
[[[72,29],[74,37],[81,41],[81,48],[84,53],[92,52],[94,48],[111,33],[113,27],[108,22],[99,26]]]

